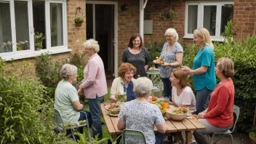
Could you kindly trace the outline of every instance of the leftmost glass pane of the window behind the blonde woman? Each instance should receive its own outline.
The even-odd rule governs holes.
[[[197,5],[188,6],[188,33],[193,33],[197,28]]]

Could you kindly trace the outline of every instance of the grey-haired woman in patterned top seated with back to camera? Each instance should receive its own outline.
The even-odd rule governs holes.
[[[133,92],[137,98],[135,100],[124,103],[119,113],[119,121],[117,128],[140,130],[145,135],[147,143],[156,142],[154,134],[154,125],[159,132],[164,133],[164,117],[157,105],[148,103],[148,97],[153,87],[152,81],[146,77],[140,77],[135,83]],[[157,138],[159,139],[159,137]],[[140,141],[127,137],[125,143],[140,143]]]

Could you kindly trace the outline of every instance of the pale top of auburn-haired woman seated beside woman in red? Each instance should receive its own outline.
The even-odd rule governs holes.
[[[182,107],[182,105],[188,105],[191,113],[196,111],[196,98],[195,95],[193,95],[191,87],[185,87],[180,95],[177,95],[177,88],[172,87],[172,102],[180,107]]]

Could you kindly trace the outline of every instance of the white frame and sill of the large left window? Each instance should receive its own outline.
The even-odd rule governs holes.
[[[12,52],[4,52],[0,53],[0,57],[4,60],[18,60],[28,57],[36,57],[41,55],[42,53],[49,53],[49,54],[57,54],[57,53],[63,53],[63,52],[71,52],[71,49],[68,49],[68,16],[67,16],[67,4],[66,0],[44,0],[45,1],[45,24],[46,24],[46,30],[45,30],[45,39],[46,41],[46,48],[47,49],[41,49],[40,51],[36,51],[34,47],[34,30],[33,30],[33,2],[32,0],[1,0],[1,1],[9,1],[9,7],[10,7],[10,17],[11,17],[11,27],[12,27]],[[15,6],[14,1],[28,1],[28,29],[29,29],[29,43],[30,43],[30,49],[28,50],[22,50],[17,51],[16,47],[16,29],[15,29]],[[50,9],[49,5],[50,3],[61,3],[63,4],[63,46],[58,47],[51,47],[51,32],[50,32]]]

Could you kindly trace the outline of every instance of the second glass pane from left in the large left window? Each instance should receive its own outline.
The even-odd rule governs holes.
[[[17,51],[29,48],[28,1],[15,1]]]

